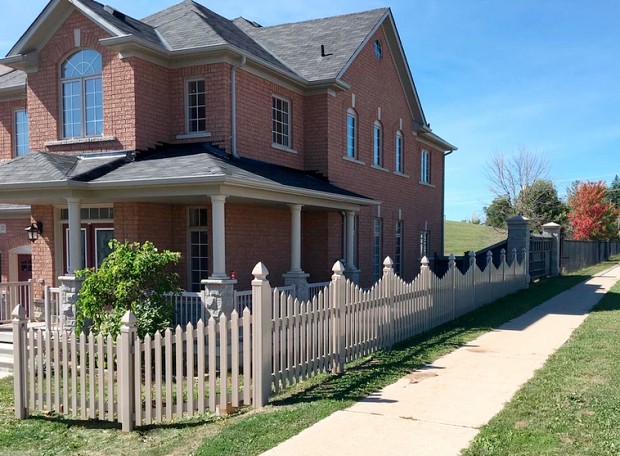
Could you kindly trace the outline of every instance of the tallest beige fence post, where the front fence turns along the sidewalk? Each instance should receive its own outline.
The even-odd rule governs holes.
[[[269,402],[271,393],[272,329],[271,285],[267,280],[269,271],[263,263],[252,270],[252,363],[254,407],[260,408]]]

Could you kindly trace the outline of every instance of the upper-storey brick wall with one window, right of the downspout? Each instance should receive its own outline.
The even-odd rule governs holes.
[[[290,102],[292,115],[292,148],[297,153],[271,147],[272,96],[279,95]],[[304,97],[282,86],[253,75],[237,71],[237,149],[239,154],[304,169]]]

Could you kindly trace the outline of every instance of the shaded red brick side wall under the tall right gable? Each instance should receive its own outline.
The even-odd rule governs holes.
[[[381,40],[383,44],[381,61],[374,54],[375,39]],[[419,236],[425,222],[431,231],[430,253],[441,253],[443,152],[422,144],[412,133],[411,114],[382,29],[362,49],[343,79],[351,85],[351,90],[327,98],[331,114],[329,178],[336,185],[382,202],[382,257],[394,257],[395,225],[401,210],[404,220],[404,276],[411,279],[419,270]],[[342,159],[346,150],[345,120],[347,109],[352,107],[352,94],[355,94],[355,110],[358,114],[359,160],[364,162],[363,165]],[[381,119],[378,119],[379,107]],[[395,138],[400,129],[400,119],[404,139],[404,174],[408,177],[394,173]],[[385,170],[371,167],[373,125],[376,120],[380,120],[383,125]],[[422,148],[431,154],[431,186],[419,183]],[[358,267],[362,269],[363,285],[368,285],[372,280],[372,223],[376,216],[376,208],[364,208],[360,213]]]

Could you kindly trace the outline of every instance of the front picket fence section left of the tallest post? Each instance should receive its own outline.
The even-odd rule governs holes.
[[[79,419],[118,421],[123,430],[251,404],[251,316],[157,332],[141,340],[127,312],[121,334],[94,336],[27,328],[14,312],[15,404]],[[21,415],[20,415],[21,413]]]

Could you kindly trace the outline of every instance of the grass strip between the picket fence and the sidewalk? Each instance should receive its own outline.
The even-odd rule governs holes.
[[[0,380],[0,454],[14,455],[254,455],[272,448],[320,419],[342,410],[403,375],[544,302],[609,267],[598,265],[572,276],[543,279],[512,296],[389,352],[347,365],[342,375],[321,375],[291,388],[262,411],[242,410],[228,418],[204,417],[140,428],[123,434],[118,425],[35,414],[16,420],[13,379]],[[619,332],[620,334],[620,332]]]

